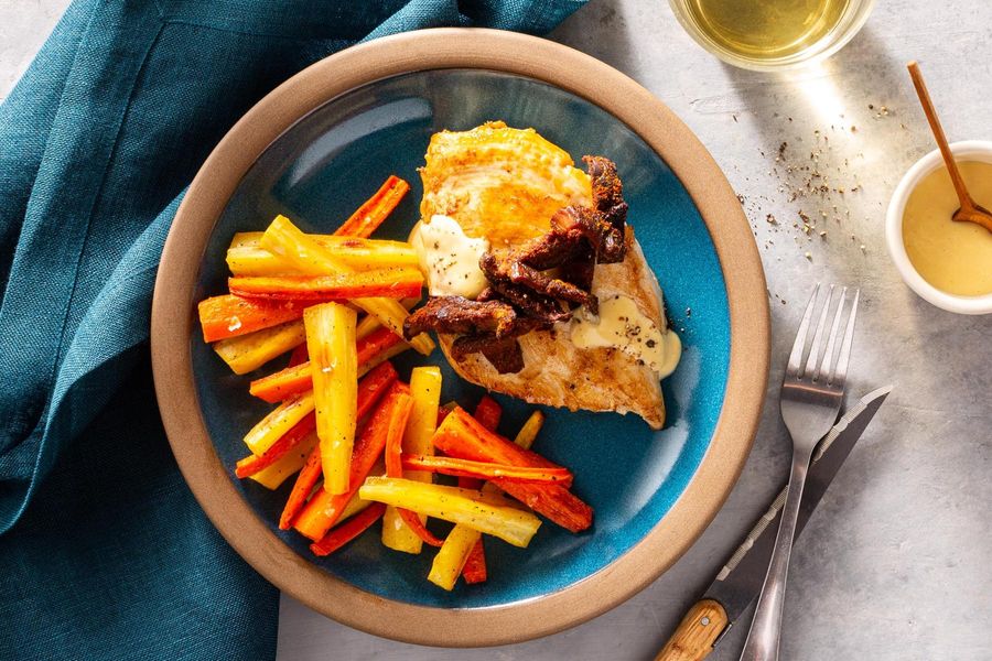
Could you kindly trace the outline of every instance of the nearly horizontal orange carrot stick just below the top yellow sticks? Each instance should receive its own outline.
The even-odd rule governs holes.
[[[346,299],[409,299],[419,296],[419,269],[384,269],[332,275],[228,278],[233,294],[273,301],[338,301]]]

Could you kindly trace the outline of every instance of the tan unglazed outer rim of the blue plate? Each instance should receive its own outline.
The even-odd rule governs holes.
[[[193,381],[196,273],[216,219],[258,155],[327,100],[377,79],[438,68],[485,68],[543,80],[633,128],[681,180],[712,236],[726,283],[730,371],[723,409],[697,474],[669,512],[607,567],[533,599],[433,608],[366,593],[298,555],[241,499],[217,457]],[[165,431],[194,496],[231,546],[276,586],[349,627],[446,647],[519,642],[617,606],[665,572],[723,505],[751,449],[768,373],[765,278],[747,219],[705,148],[661,101],[616,69],[542,39],[485,29],[410,32],[347,48],[296,74],[248,111],[201,167],[165,241],[152,302],[151,351]],[[424,589],[430,586],[424,584]]]

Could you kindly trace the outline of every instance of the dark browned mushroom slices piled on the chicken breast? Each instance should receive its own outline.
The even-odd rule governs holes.
[[[479,268],[489,286],[471,301],[435,296],[403,324],[409,339],[433,329],[461,335],[452,358],[481,353],[499,373],[524,369],[517,337],[549,329],[584,306],[596,313],[592,293],[596,263],[616,263],[626,254],[627,203],[613,161],[584,156],[593,206],[572,205],[551,217],[551,230],[507,256],[485,253]]]

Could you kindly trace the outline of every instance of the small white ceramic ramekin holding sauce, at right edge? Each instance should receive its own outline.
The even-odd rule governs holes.
[[[956,161],[992,163],[992,142],[964,140],[952,142],[950,148]],[[909,261],[909,256],[906,254],[906,246],[903,243],[903,213],[906,210],[906,201],[909,199],[909,194],[925,176],[942,166],[940,151],[935,149],[903,175],[895,193],[892,194],[888,213],[885,216],[885,240],[888,245],[888,254],[892,256],[892,261],[906,284],[929,303],[958,314],[990,314],[992,313],[992,293],[982,296],[957,296],[942,292],[924,280],[923,275],[913,267],[913,262]]]

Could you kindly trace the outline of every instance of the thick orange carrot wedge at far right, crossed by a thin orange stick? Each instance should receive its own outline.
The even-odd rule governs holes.
[[[489,432],[461,408],[444,419],[434,433],[433,443],[434,447],[445,454],[463,459],[556,467],[556,464],[542,456]],[[560,485],[535,485],[506,479],[494,479],[493,484],[572,532],[580,532],[592,525],[592,508]]]

